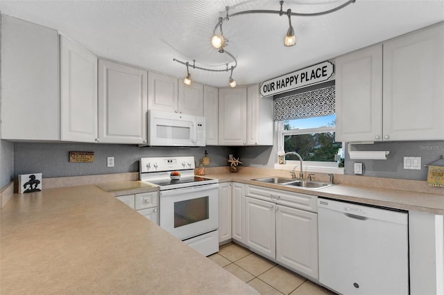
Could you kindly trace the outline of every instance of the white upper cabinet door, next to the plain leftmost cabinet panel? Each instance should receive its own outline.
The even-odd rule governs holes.
[[[97,57],[60,36],[62,141],[97,139]]]

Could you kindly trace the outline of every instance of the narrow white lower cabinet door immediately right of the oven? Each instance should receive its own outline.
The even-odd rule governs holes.
[[[231,183],[219,184],[219,243],[231,239]]]

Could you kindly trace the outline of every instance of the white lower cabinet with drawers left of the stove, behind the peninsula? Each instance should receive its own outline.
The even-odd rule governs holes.
[[[116,197],[121,202],[135,209],[137,213],[148,218],[155,224],[159,224],[159,193],[139,193],[135,195],[123,195]]]

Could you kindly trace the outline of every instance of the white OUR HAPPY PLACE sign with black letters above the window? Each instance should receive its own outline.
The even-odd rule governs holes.
[[[308,66],[305,69],[262,82],[260,93],[262,96],[274,96],[278,93],[307,87],[329,80],[333,73],[334,65],[331,62],[321,62],[321,64]]]

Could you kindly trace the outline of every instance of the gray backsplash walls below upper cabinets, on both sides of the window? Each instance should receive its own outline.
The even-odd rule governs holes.
[[[120,172],[138,172],[139,158],[163,156],[194,156],[196,165],[205,150],[211,159],[210,166],[227,166],[228,154],[235,154],[244,162],[243,166],[273,168],[277,154],[271,146],[253,147],[137,147],[137,145],[113,145],[94,143],[10,143],[2,141],[1,176],[13,167],[14,177],[19,174],[42,172],[43,177],[67,177],[98,175]],[[14,148],[13,155],[10,151]],[[427,179],[425,164],[444,155],[444,141],[405,141],[352,145],[353,150],[388,150],[387,160],[350,160],[345,153],[345,174],[353,175],[353,163],[364,163],[364,176],[396,179]],[[69,151],[94,152],[94,163],[69,163]],[[5,154],[5,155],[4,155]],[[11,157],[14,158],[12,163]],[[106,158],[114,157],[114,168],[106,166]],[[421,170],[404,170],[403,157],[421,157]],[[11,162],[11,163],[10,163]],[[4,167],[3,167],[4,166]],[[6,177],[7,178],[7,177]]]

